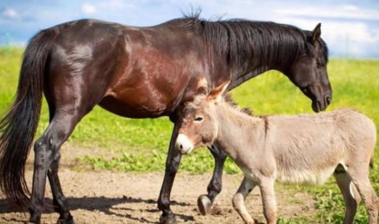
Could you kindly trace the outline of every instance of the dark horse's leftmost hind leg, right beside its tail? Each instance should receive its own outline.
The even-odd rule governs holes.
[[[43,212],[46,175],[48,173],[48,169],[54,168],[54,166],[57,165],[53,163],[57,163],[59,161],[60,146],[69,137],[75,125],[85,114],[86,112],[80,110],[58,109],[43,135],[34,143],[34,173],[29,205],[31,223],[40,223],[41,214]],[[52,165],[53,167],[51,167]],[[56,172],[57,169],[50,170],[52,180],[58,181]],[[55,193],[57,199],[60,196],[59,193],[61,193],[61,190],[57,185],[55,185],[54,189],[55,191],[53,190],[53,193]],[[61,200],[60,202],[64,203],[64,200]]]

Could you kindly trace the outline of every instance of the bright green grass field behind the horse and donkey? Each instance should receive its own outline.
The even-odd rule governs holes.
[[[0,113],[6,111],[15,94],[22,49],[0,48]],[[328,111],[349,107],[371,117],[379,126],[379,61],[332,59],[328,64],[333,88],[333,101]],[[241,106],[251,107],[256,114],[312,112],[311,102],[290,81],[278,72],[267,72],[233,90],[234,99]],[[48,124],[47,106],[44,103],[39,123],[39,136]],[[167,117],[157,119],[128,119],[96,107],[78,124],[69,142],[86,148],[101,148],[113,152],[115,157],[99,156],[79,158],[80,163],[93,169],[115,171],[163,171],[173,125]],[[377,150],[378,150],[377,143]],[[379,152],[375,162],[379,163]],[[210,153],[196,150],[182,158],[180,170],[190,173],[210,172],[213,159]],[[225,165],[228,173],[239,172],[232,161]],[[371,170],[371,180],[379,193],[379,165]],[[278,187],[287,187],[281,186]],[[288,188],[294,188],[293,186]],[[297,186],[298,190],[313,193],[321,223],[342,223],[344,202],[331,179],[323,187]],[[307,219],[280,219],[279,223],[303,223]],[[356,223],[367,223],[366,211],[361,205]]]

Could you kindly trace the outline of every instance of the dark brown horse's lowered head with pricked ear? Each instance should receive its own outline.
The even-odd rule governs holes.
[[[294,63],[284,73],[299,89],[312,100],[315,112],[325,110],[332,101],[332,88],[328,78],[328,48],[320,38],[321,23],[313,32],[305,31],[307,43]]]

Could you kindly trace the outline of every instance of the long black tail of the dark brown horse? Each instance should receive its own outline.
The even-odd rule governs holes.
[[[22,59],[12,107],[0,120],[0,188],[18,206],[28,204],[24,168],[41,110],[45,64],[57,32],[42,30],[30,39]]]

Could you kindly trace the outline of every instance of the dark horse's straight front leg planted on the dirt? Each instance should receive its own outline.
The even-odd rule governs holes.
[[[170,194],[173,188],[175,175],[178,172],[182,155],[175,149],[175,141],[178,137],[179,125],[175,123],[170,140],[169,153],[166,160],[166,171],[163,179],[161,193],[158,199],[158,208],[162,211],[161,224],[177,224],[174,213],[170,209]]]

